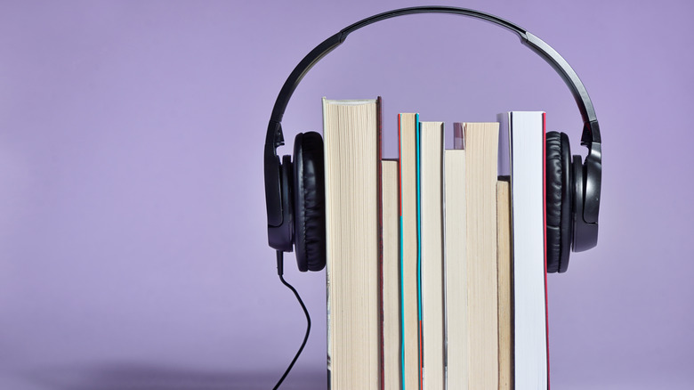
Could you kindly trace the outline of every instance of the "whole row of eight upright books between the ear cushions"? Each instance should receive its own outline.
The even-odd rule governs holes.
[[[545,113],[453,126],[323,99],[330,388],[546,389]]]

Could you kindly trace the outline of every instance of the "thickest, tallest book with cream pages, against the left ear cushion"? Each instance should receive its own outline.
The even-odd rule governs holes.
[[[323,99],[327,368],[333,390],[381,386],[381,100]]]

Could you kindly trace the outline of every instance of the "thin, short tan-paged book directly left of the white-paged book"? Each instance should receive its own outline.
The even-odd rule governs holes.
[[[496,183],[496,267],[498,272],[499,390],[513,388],[511,183],[499,176]]]

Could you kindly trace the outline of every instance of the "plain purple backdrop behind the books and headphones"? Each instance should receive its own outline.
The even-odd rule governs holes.
[[[444,1],[553,45],[604,139],[598,248],[549,277],[554,389],[694,387],[689,1]],[[414,1],[0,4],[0,388],[270,388],[305,327],[266,245],[262,142],[295,64],[352,22]],[[578,150],[561,78],[512,33],[408,16],[354,33],[299,86],[320,98],[494,120],[546,110]],[[285,147],[280,153],[290,154]],[[286,258],[313,317],[286,389],[325,384],[325,274]]]

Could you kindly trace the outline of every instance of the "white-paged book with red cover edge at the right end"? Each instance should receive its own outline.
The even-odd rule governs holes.
[[[499,173],[511,175],[514,385],[547,389],[545,113],[512,111],[499,117]]]

